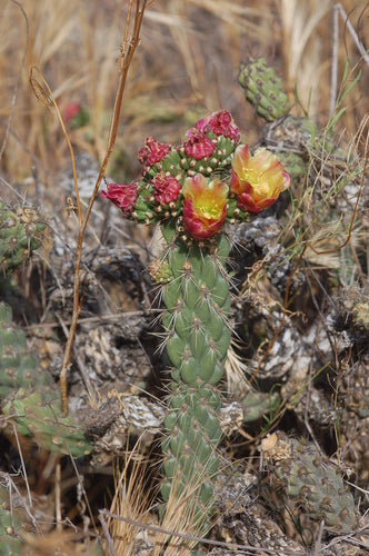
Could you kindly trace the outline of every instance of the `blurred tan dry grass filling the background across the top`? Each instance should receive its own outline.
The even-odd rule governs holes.
[[[349,12],[352,2],[346,3]],[[113,0],[103,9],[94,0],[6,3],[0,19],[0,137],[11,116],[2,169],[12,179],[30,176],[36,160],[43,178],[43,171],[54,171],[67,157],[57,118],[34,99],[29,87],[33,64],[61,110],[71,101],[89,110],[88,129],[72,131],[71,140],[102,160],[118,80],[124,6]],[[325,121],[332,52],[330,8],[328,1],[293,0],[263,2],[262,7],[256,1],[247,6],[226,0],[152,2],[124,93],[117,149],[133,158],[144,133],[160,129],[161,138],[170,140],[199,112],[220,107],[230,109],[248,135],[255,136],[257,127],[237,85],[238,63],[250,54],[275,59],[283,68],[290,95],[297,85],[302,105]],[[366,18],[360,14],[365,2],[356,2],[355,8],[350,19],[363,38]],[[342,20],[339,39],[340,67],[347,56],[355,64],[360,56]],[[351,131],[357,126],[356,112],[365,107],[368,71],[350,99],[353,106],[345,123]]]

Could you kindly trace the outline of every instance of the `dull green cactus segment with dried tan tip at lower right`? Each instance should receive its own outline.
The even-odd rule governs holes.
[[[337,467],[310,443],[275,433],[260,450],[271,466],[273,485],[312,519],[325,520],[325,528],[339,534],[355,527],[355,500],[345,488]]]

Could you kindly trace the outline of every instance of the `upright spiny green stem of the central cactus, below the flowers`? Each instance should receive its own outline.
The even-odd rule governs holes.
[[[170,237],[168,230],[166,237]],[[212,505],[212,483],[221,438],[217,384],[222,378],[230,331],[227,317],[230,294],[223,265],[229,244],[219,236],[208,248],[172,242],[167,260],[174,279],[163,287],[168,334],[167,355],[172,369],[172,394],[166,418],[162,496],[192,489],[195,514],[202,526]]]

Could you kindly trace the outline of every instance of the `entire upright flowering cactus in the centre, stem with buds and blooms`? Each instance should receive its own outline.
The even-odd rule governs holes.
[[[227,110],[198,121],[178,147],[149,138],[139,152],[140,181],[108,185],[101,193],[127,218],[159,222],[167,242],[150,268],[167,308],[163,346],[172,366],[161,495],[182,502],[198,535],[210,526],[221,439],[218,385],[231,336],[223,225],[246,221],[290,185],[277,157],[266,149],[250,156],[239,139]]]

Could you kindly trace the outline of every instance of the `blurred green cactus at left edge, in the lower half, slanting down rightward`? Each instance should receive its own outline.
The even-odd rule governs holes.
[[[26,335],[12,326],[11,309],[0,304],[0,396],[2,413],[20,435],[49,451],[81,457],[91,451],[91,444],[61,411],[59,389],[41,370],[39,358],[27,350]]]

